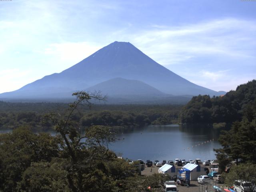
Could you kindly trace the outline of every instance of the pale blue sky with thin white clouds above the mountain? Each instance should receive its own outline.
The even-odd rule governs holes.
[[[114,41],[198,85],[256,78],[256,1],[0,1],[0,93],[61,72]]]

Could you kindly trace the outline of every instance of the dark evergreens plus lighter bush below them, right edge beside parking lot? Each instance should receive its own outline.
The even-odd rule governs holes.
[[[248,94],[247,94],[248,95]],[[214,149],[225,182],[232,185],[234,180],[256,181],[256,100],[245,102],[242,120],[232,123],[230,130],[222,130],[218,141],[222,148]],[[232,164],[235,162],[236,164]],[[252,185],[253,191],[256,185]]]

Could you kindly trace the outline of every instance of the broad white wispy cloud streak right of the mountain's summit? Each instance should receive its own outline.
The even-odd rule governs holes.
[[[225,18],[174,27],[154,25],[131,39],[161,64],[171,65],[203,55],[255,57],[252,34],[256,34],[254,20]]]

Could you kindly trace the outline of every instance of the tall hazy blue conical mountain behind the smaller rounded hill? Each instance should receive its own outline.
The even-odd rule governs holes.
[[[71,92],[86,90],[114,78],[138,80],[164,94],[220,95],[178,76],[129,42],[113,42],[60,73],[0,94],[0,98],[66,98]]]

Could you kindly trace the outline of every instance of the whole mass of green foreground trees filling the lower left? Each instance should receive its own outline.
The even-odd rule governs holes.
[[[76,96],[65,113],[45,116],[56,136],[35,134],[28,126],[0,134],[0,191],[163,191],[168,175],[140,176],[139,162],[129,164],[108,149],[116,140],[110,127],[90,126],[81,134],[73,114],[90,99],[84,92]]]

